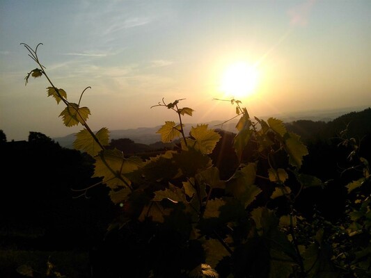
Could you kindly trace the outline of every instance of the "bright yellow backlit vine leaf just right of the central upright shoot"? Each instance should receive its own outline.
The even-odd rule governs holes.
[[[196,127],[192,126],[189,133],[192,138],[187,138],[187,145],[198,149],[203,154],[211,154],[216,143],[221,138],[219,133],[213,129],[208,129],[207,126],[208,124],[197,124]]]

